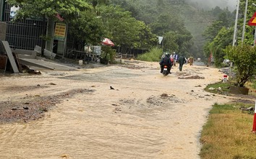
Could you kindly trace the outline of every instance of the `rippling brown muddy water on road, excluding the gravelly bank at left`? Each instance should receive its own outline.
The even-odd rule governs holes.
[[[195,86],[216,78],[163,78],[154,67],[37,79],[94,91],[64,99],[38,121],[0,125],[0,158],[199,158],[202,125],[210,106],[223,100]]]

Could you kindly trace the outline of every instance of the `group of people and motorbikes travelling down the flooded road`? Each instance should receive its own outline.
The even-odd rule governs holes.
[[[163,73],[164,65],[168,67],[168,72],[171,73],[171,68],[173,65],[176,65],[176,62],[179,63],[179,71],[182,71],[182,67],[185,63],[188,62],[189,65],[192,65],[193,61],[192,56],[187,60],[183,55],[179,56],[176,53],[169,55],[168,53],[164,53],[159,63],[161,65],[161,73]]]

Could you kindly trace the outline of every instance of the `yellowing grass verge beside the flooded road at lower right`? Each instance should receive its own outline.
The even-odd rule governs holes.
[[[256,81],[247,82],[250,96],[255,96]],[[230,95],[230,83],[213,83],[205,88],[213,94]],[[256,135],[252,133],[255,102],[239,99],[229,104],[214,104],[208,122],[202,127],[202,159],[256,158]]]

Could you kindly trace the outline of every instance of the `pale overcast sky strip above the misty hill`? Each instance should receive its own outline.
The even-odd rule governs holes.
[[[220,6],[221,8],[229,7],[230,11],[236,9],[237,0],[190,0],[197,1],[199,6],[214,8],[215,6]]]

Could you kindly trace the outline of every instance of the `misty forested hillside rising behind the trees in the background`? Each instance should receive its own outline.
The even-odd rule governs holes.
[[[177,26],[174,24],[184,25],[193,37],[190,40],[192,41],[192,46],[185,49],[189,49],[186,50],[187,54],[195,55],[195,57],[202,57],[203,55],[205,39],[202,34],[205,29],[214,20],[218,19],[222,12],[229,12],[230,19],[234,18],[231,14],[233,11],[229,11],[227,7],[213,6],[210,9],[209,4],[202,4],[195,0],[114,0],[113,2],[132,12],[132,17],[148,24],[153,28],[153,33],[157,35],[162,34],[160,30],[155,29],[160,28],[161,24],[156,24],[158,22],[162,22],[162,25],[171,23],[172,27]],[[208,7],[204,9],[204,6]],[[232,21],[230,20],[229,22]],[[155,27],[156,25],[158,27]],[[161,26],[162,29],[163,27]],[[175,32],[175,29],[173,31]],[[163,30],[163,32],[166,32],[166,30]]]

